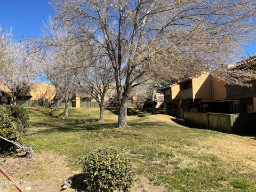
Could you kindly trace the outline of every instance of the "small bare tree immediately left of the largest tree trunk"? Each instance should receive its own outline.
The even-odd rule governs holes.
[[[86,60],[78,69],[78,84],[84,92],[90,94],[98,102],[99,121],[103,122],[104,108],[109,105],[110,99],[115,95],[114,71],[109,58],[105,55],[89,63]]]

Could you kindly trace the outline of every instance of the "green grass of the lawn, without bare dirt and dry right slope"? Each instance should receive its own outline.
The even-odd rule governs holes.
[[[103,123],[98,122],[98,109],[70,109],[68,121],[62,119],[63,109],[28,110],[31,126],[26,142],[34,146],[35,153],[53,151],[67,156],[69,166],[77,171],[82,170],[78,158],[100,147],[115,147],[130,159],[137,175],[166,191],[255,191],[255,169],[237,171],[239,163],[224,161],[208,153],[211,148],[199,145],[212,137],[221,141],[225,133],[148,121],[150,111],[130,108],[126,129],[115,128],[115,108],[105,111]]]

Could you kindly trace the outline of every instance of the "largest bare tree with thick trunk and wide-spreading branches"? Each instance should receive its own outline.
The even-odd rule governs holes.
[[[108,53],[119,101],[117,127],[127,126],[127,100],[140,77],[151,78],[148,71],[179,78],[188,68],[179,59],[184,55],[203,70],[217,69],[254,39],[251,0],[55,0],[52,5],[62,25]]]

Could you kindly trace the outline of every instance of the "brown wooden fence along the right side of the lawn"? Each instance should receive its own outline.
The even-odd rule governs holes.
[[[256,113],[184,113],[184,119],[189,127],[232,134],[256,134]]]

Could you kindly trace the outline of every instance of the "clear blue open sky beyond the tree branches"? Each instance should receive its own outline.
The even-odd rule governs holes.
[[[50,0],[0,0],[0,25],[10,29],[12,27],[14,38],[19,41],[25,37],[39,37],[43,21],[49,15],[54,16]],[[247,53],[256,54],[256,42],[244,46],[243,56]],[[242,56],[242,55],[241,55]]]

